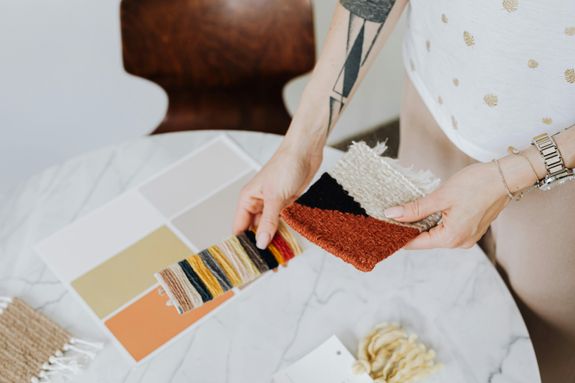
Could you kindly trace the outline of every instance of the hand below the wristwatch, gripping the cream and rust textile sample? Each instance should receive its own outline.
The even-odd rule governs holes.
[[[431,194],[385,211],[399,222],[419,221],[440,211],[440,223],[411,241],[406,249],[470,248],[509,202],[495,163],[469,165]]]

